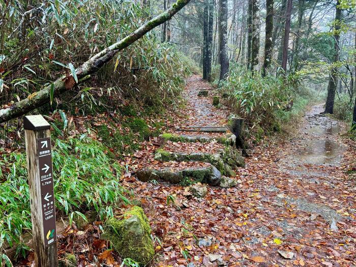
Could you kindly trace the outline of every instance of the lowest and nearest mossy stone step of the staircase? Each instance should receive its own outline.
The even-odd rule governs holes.
[[[190,167],[182,170],[144,168],[137,170],[135,174],[137,179],[141,182],[156,180],[179,184],[188,179],[194,183],[204,183],[212,186],[220,186],[222,188],[230,188],[238,184],[236,180],[221,175],[221,172],[214,166]]]

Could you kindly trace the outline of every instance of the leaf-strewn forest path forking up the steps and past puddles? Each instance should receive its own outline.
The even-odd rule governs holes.
[[[211,92],[198,97],[200,89],[212,90],[198,76],[191,77],[185,91],[188,105],[184,114],[177,114],[173,133],[182,134],[176,129],[197,123],[226,123],[228,111],[213,107]],[[237,169],[236,187],[209,186],[205,197],[196,198],[184,186],[128,177],[124,185],[142,197],[153,230],[163,242],[157,266],[186,266],[185,256],[192,259],[191,267],[356,264],[356,183],[345,173],[354,148],[339,136],[343,125],[320,111],[322,105],[312,107],[291,140],[258,146],[246,166]],[[187,114],[189,120],[183,118]],[[152,147],[157,149],[157,142],[146,144],[149,149],[140,152],[136,167],[193,164],[155,161]],[[212,151],[219,145],[216,141],[168,144],[172,151]],[[174,204],[167,205],[169,196]]]

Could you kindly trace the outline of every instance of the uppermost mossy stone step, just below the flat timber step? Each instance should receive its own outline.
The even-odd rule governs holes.
[[[220,136],[204,136],[204,135],[188,135],[188,134],[174,134],[174,133],[164,133],[160,135],[165,141],[172,142],[187,142],[187,143],[207,143],[216,140],[218,143],[226,145],[234,145],[236,141],[236,136],[234,134],[225,134]]]

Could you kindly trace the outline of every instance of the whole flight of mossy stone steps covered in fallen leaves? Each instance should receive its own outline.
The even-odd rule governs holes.
[[[160,140],[162,144],[155,152],[155,160],[174,163],[174,167],[151,166],[137,170],[136,176],[142,182],[179,184],[190,179],[231,187],[236,184],[234,170],[245,166],[241,151],[236,149],[236,136],[226,127],[189,127],[164,133]]]

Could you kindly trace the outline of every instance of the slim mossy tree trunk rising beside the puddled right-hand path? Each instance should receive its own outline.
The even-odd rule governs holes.
[[[339,8],[340,1],[337,0],[336,4],[336,13],[335,13],[335,28],[333,31],[333,36],[335,39],[334,44],[334,58],[333,58],[333,66],[331,68],[330,76],[329,76],[329,85],[328,85],[328,97],[327,103],[325,105],[324,113],[333,114],[334,113],[334,101],[335,101],[335,91],[338,83],[338,68],[335,64],[339,61],[340,47],[340,20],[341,20],[341,9]]]

